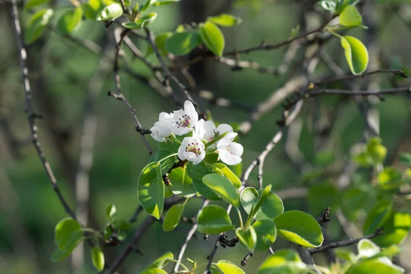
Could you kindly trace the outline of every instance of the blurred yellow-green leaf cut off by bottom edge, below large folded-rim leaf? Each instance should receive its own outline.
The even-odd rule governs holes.
[[[291,249],[282,249],[275,253],[262,263],[257,274],[295,274],[306,269],[306,264],[301,262],[298,254]]]

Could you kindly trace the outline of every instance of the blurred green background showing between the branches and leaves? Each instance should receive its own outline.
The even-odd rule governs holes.
[[[224,2],[224,3],[223,3]],[[407,1],[364,1],[366,14],[371,16],[376,29],[376,42],[384,53],[384,60],[379,59],[379,66],[384,69],[410,69],[411,43],[411,3]],[[385,2],[385,3],[380,3]],[[58,12],[69,7],[68,1],[53,3]],[[318,26],[324,12],[314,5],[314,1],[265,1],[265,0],[182,0],[175,5],[155,8],[158,18],[152,24],[155,34],[173,32],[179,23],[203,21],[215,11],[229,12],[242,18],[242,24],[223,29],[225,49],[244,49],[253,47],[262,40],[268,43],[286,40],[291,29],[301,24],[301,12],[308,12],[308,29]],[[21,10],[23,26],[27,22],[29,12]],[[53,22],[58,18],[55,15]],[[410,21],[408,21],[410,20]],[[10,5],[0,1],[0,273],[71,273],[71,260],[52,263],[49,258],[55,248],[53,229],[56,223],[66,216],[58,201],[47,175],[42,167],[34,147],[29,142],[29,130],[24,114],[24,92],[21,84],[21,71],[11,23]],[[53,25],[53,23],[51,23]],[[106,43],[114,45],[112,25],[106,29],[103,23],[83,21],[73,36],[81,40],[93,40],[98,45]],[[365,37],[363,29],[348,32],[358,38]],[[147,51],[145,42],[132,38],[142,52]],[[110,44],[111,43],[111,44]],[[262,66],[277,67],[282,63],[286,47],[274,51],[256,51],[242,56],[243,60],[253,60]],[[325,51],[334,61],[347,70],[343,50],[339,41],[332,39]],[[27,47],[29,56],[29,75],[34,93],[34,108],[45,116],[38,120],[39,136],[42,147],[56,172],[59,186],[70,205],[75,207],[73,195],[73,176],[77,170],[79,158],[79,142],[82,134],[84,104],[86,101],[88,82],[99,64],[101,56],[79,47],[71,40],[56,34],[49,29],[45,36]],[[114,56],[114,51],[108,51]],[[301,52],[297,54],[301,58]],[[299,57],[297,57],[298,59]],[[132,58],[125,49],[125,59],[129,67],[145,77],[151,77],[151,71],[144,64]],[[149,60],[155,62],[155,56]],[[373,62],[373,60],[371,60]],[[110,65],[111,66],[111,65]],[[233,108],[217,108],[197,96],[198,90],[210,90],[217,97],[256,105],[263,101],[284,84],[290,74],[298,75],[302,67],[297,66],[284,75],[262,75],[251,69],[232,72],[229,66],[214,60],[206,60],[193,68],[197,80],[197,88],[193,90],[202,111],[210,110],[213,119],[221,123],[240,123],[247,119],[247,111]],[[323,64],[319,64],[314,76],[329,73]],[[121,71],[122,92],[136,108],[143,127],[149,128],[158,119],[161,111],[171,112],[177,109],[169,100],[151,89],[146,84],[130,77]],[[400,86],[409,84],[408,80],[393,79],[392,75],[378,75],[381,88],[389,88],[395,82]],[[105,206],[114,203],[119,216],[129,219],[138,206],[136,184],[141,169],[149,161],[149,153],[142,144],[140,136],[134,130],[134,124],[125,106],[105,96],[107,90],[114,90],[112,72],[102,75],[103,88],[101,96],[95,101],[97,114],[97,133],[95,136],[94,162],[90,171],[90,215],[96,229],[105,224]],[[364,86],[360,79],[358,85]],[[179,95],[180,101],[184,99]],[[308,101],[303,108],[301,121],[303,128],[299,140],[306,161],[314,164],[316,151],[313,145],[312,121],[316,108],[323,113],[335,107],[335,97],[321,99],[320,106]],[[318,103],[318,102],[317,102]],[[394,155],[399,149],[410,151],[410,100],[404,97],[386,97],[377,104],[380,120],[380,135],[384,145],[388,147],[388,155]],[[258,155],[278,126],[275,121],[281,119],[282,107],[264,114],[257,121],[251,132],[240,142],[245,147],[243,164],[247,166]],[[332,149],[336,161],[344,164],[349,160],[349,149],[362,140],[364,122],[356,104],[349,100],[340,108],[334,127],[332,127]],[[148,138],[153,148],[157,142]],[[257,184],[256,173],[253,172],[250,185]],[[272,184],[274,190],[290,186],[301,186],[301,172],[284,152],[284,140],[280,142],[266,158],[264,184]],[[197,212],[201,203],[192,199],[185,216]],[[314,216],[320,212],[312,212],[304,199],[284,201],[286,210],[301,209]],[[235,212],[234,212],[235,213]],[[138,227],[144,219],[140,214],[137,223],[132,225],[128,235]],[[233,215],[233,220],[237,220]],[[330,224],[334,229],[334,239],[340,237],[338,224]],[[181,225],[183,231],[190,229],[190,224]],[[214,237],[205,242],[201,234],[188,245],[186,256],[198,262],[206,262],[206,257],[214,244]],[[229,235],[232,236],[232,235]],[[155,223],[138,247],[144,253],[140,256],[133,253],[119,270],[121,273],[137,273],[165,251],[178,253],[186,234],[182,232],[162,232],[160,223]],[[126,240],[127,241],[127,240]],[[403,245],[404,258],[410,255],[410,242]],[[288,247],[284,240],[277,240],[274,249]],[[85,267],[79,273],[95,273],[86,249]],[[103,251],[106,262],[115,258],[122,247],[106,247]],[[247,254],[243,247],[219,249],[214,260],[232,260],[240,264]],[[247,273],[255,273],[256,268],[266,258],[268,252],[259,251],[244,267]],[[321,262],[321,258],[319,258]],[[183,262],[186,262],[184,260]],[[403,261],[403,267],[410,267],[410,262]]]

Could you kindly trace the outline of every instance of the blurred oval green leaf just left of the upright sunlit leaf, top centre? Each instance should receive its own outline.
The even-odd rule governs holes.
[[[186,55],[201,44],[198,32],[176,32],[166,38],[166,51],[174,55]]]

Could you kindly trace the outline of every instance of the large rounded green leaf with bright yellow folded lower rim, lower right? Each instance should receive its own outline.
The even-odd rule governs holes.
[[[303,247],[319,247],[323,243],[322,229],[311,215],[291,210],[274,219],[278,236]]]

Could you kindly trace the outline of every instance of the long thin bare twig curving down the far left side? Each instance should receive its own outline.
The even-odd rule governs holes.
[[[38,140],[38,134],[37,134],[38,127],[35,121],[36,118],[38,118],[38,114],[34,112],[33,107],[32,107],[32,90],[30,88],[29,76],[28,76],[29,73],[27,69],[27,51],[25,50],[25,47],[23,45],[21,25],[20,25],[20,20],[18,17],[18,8],[17,8],[16,0],[11,0],[11,5],[12,5],[13,25],[14,25],[14,30],[16,32],[16,44],[18,47],[18,57],[20,58],[21,72],[23,76],[23,86],[25,89],[25,112],[27,114],[27,121],[29,123],[29,129],[30,129],[30,135],[32,138],[32,142],[33,142],[34,147],[36,148],[38,156],[40,157],[42,165],[44,166],[46,170],[47,176],[49,177],[49,180],[51,182],[51,186],[53,186],[53,190],[55,194],[57,195],[58,199],[60,200],[60,203],[62,203],[64,210],[66,210],[66,212],[71,216],[71,218],[77,219],[74,211],[69,207],[69,204],[66,202],[66,199],[64,199],[62,192],[60,191],[60,188],[58,187],[57,179],[55,179],[53,170],[51,169],[49,162],[47,162],[45,153],[43,153],[41,145],[40,145],[40,141]]]

